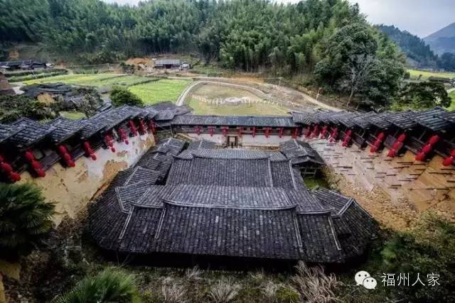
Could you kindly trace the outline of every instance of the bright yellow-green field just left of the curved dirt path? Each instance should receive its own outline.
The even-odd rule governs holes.
[[[155,104],[161,101],[177,101],[183,89],[191,84],[186,79],[161,79],[156,82],[138,84],[129,87],[145,104]]]

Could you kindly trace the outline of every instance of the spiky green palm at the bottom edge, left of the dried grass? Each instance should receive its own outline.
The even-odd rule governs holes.
[[[54,303],[139,302],[135,282],[133,275],[107,268],[98,275],[85,277]]]

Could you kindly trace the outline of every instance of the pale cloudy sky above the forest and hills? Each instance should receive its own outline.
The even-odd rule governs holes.
[[[137,4],[139,0],[103,0],[118,4]],[[298,2],[298,0],[275,0]],[[455,22],[455,0],[348,0],[373,24],[395,25],[421,38]]]

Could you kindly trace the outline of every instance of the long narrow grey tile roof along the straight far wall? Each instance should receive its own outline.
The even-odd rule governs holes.
[[[294,127],[291,116],[176,116],[172,125]]]

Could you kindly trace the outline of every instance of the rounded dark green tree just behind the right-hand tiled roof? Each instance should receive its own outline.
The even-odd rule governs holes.
[[[412,82],[400,92],[397,102],[402,109],[429,109],[434,106],[450,106],[451,99],[444,84],[438,82]]]

